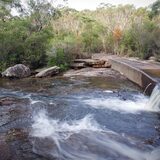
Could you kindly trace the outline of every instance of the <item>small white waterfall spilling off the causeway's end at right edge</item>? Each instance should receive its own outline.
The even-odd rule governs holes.
[[[155,111],[160,110],[160,84],[156,85],[153,89],[147,106]]]

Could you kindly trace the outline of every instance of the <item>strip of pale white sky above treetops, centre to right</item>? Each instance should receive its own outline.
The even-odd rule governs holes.
[[[75,8],[76,10],[94,10],[102,2],[110,3],[113,5],[134,4],[136,7],[146,7],[155,1],[156,0],[68,0],[67,3],[70,8]]]

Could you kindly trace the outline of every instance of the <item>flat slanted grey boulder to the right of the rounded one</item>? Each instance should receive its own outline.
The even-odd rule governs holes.
[[[45,70],[42,70],[38,74],[35,75],[37,78],[43,78],[43,77],[52,77],[56,74],[58,74],[60,71],[60,68],[57,66],[47,68]]]

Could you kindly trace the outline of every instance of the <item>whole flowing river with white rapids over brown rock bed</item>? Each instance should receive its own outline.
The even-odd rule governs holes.
[[[126,79],[3,79],[0,93],[0,160],[160,160],[159,108]]]

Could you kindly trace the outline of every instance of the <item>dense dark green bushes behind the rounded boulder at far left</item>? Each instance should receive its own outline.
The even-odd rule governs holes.
[[[33,32],[28,19],[1,22],[1,26],[0,59],[5,62],[1,70],[17,63],[27,64],[31,68],[46,64],[46,50],[52,35],[49,28]]]

